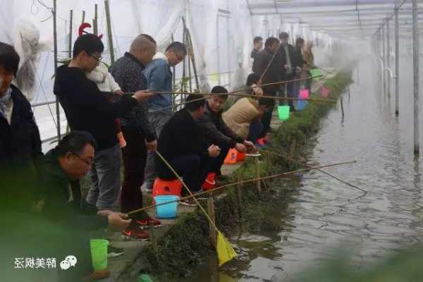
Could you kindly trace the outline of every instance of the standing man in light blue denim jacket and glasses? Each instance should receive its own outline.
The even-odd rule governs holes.
[[[161,130],[167,121],[173,116],[172,94],[160,94],[157,92],[172,92],[171,67],[185,59],[187,47],[180,42],[172,42],[164,53],[157,52],[153,61],[144,70],[147,78],[147,89],[156,92],[149,99],[149,122],[159,138]],[[154,179],[157,176],[154,152],[149,151],[147,166],[145,167],[145,185],[147,190],[152,190]]]

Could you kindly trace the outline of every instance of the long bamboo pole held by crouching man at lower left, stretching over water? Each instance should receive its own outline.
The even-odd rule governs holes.
[[[272,179],[272,178],[279,178],[279,177],[283,177],[283,176],[289,176],[289,175],[293,175],[295,173],[299,173],[299,172],[302,172],[302,171],[311,171],[313,169],[328,168],[328,167],[331,167],[331,166],[342,166],[342,165],[345,165],[345,164],[354,164],[356,162],[357,161],[344,161],[344,162],[341,162],[341,163],[327,164],[327,165],[324,165],[324,166],[310,166],[308,168],[300,168],[300,169],[297,169],[295,171],[287,171],[287,172],[284,172],[284,173],[278,173],[278,174],[274,174],[274,175],[271,175],[271,176],[263,176],[263,177],[260,177],[260,178],[252,178],[252,179],[248,179],[248,180],[241,180],[241,181],[237,181],[235,183],[229,183],[229,184],[226,184],[226,185],[222,185],[222,186],[214,188],[212,190],[197,192],[197,193],[190,195],[190,196],[187,196],[187,197],[181,197],[178,200],[164,202],[164,203],[161,203],[161,204],[150,204],[147,207],[142,207],[141,209],[135,209],[131,212],[128,212],[127,214],[128,215],[137,214],[138,212],[143,212],[146,209],[152,209],[153,207],[159,207],[159,206],[164,205],[164,204],[171,204],[173,202],[188,200],[188,199],[191,199],[192,197],[202,196],[202,195],[209,194],[209,193],[212,193],[212,192],[216,192],[216,191],[219,191],[219,190],[231,187],[231,186],[235,186],[235,185],[243,185],[245,183],[256,182],[256,181],[259,181],[259,180],[266,180],[266,179]],[[241,187],[244,188],[245,186],[241,186]]]

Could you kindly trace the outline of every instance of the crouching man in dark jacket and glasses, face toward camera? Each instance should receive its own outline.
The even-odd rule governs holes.
[[[203,176],[204,180],[209,172],[216,173],[216,176],[221,175],[221,166],[229,149],[235,148],[238,152],[246,152],[247,147],[254,149],[252,142],[236,135],[223,121],[222,111],[226,99],[228,99],[228,90],[222,86],[215,86],[212,89],[213,93],[216,95],[212,95],[206,100],[204,115],[197,123],[200,125],[207,142],[218,145],[221,148],[221,154],[219,154],[219,157],[209,159],[207,171],[204,172]]]

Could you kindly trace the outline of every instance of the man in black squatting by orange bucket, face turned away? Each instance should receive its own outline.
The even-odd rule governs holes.
[[[202,173],[209,157],[219,156],[221,149],[216,145],[209,145],[202,129],[197,124],[204,114],[204,100],[198,95],[190,95],[185,108],[176,112],[164,125],[159,137],[158,152],[168,161],[192,192],[200,190]],[[172,180],[176,176],[161,161],[157,159],[158,176],[161,179]],[[183,189],[183,195],[187,195]],[[181,202],[185,205],[195,205],[191,200]]]

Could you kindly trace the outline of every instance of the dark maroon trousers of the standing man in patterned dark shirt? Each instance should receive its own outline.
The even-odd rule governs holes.
[[[145,137],[135,130],[123,128],[126,146],[122,149],[123,185],[121,190],[121,211],[123,213],[142,208],[141,185],[144,183],[144,169],[147,161]],[[140,214],[143,219],[146,214]]]

